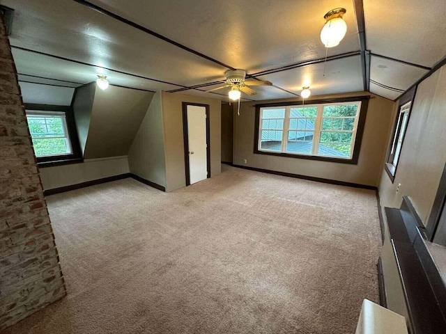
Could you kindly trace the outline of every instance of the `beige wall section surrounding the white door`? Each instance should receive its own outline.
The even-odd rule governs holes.
[[[221,173],[222,102],[205,97],[162,92],[164,144],[166,148],[166,191],[174,191],[186,186],[183,102],[209,104],[210,176],[213,177]]]

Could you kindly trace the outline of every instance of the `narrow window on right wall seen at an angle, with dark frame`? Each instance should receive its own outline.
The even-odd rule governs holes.
[[[399,100],[399,108],[397,120],[394,125],[392,141],[387,152],[387,160],[385,161],[385,171],[389,175],[390,180],[394,181],[397,173],[398,161],[403,148],[404,136],[409,123],[410,110],[412,109],[413,97],[415,97],[415,88],[405,93]]]

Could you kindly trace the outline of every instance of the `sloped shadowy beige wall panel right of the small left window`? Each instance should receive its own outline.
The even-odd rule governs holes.
[[[153,95],[116,86],[96,89],[84,158],[128,154]]]

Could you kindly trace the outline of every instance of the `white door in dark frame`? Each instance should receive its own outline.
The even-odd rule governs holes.
[[[208,177],[206,107],[187,106],[187,136],[190,184],[194,184]]]

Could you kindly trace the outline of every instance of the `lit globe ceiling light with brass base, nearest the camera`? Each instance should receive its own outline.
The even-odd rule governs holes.
[[[326,22],[321,31],[321,41],[325,47],[336,47],[346,35],[347,24],[342,19],[345,13],[345,8],[334,8],[324,15]]]

